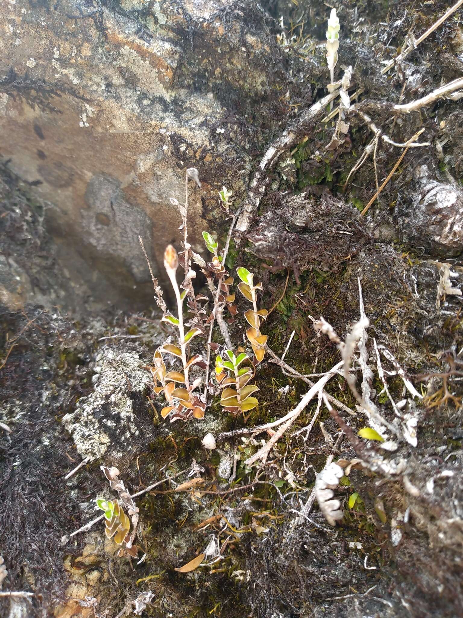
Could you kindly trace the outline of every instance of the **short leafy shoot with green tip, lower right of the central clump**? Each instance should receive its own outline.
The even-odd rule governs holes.
[[[222,388],[220,405],[224,410],[237,415],[253,410],[259,402],[252,393],[259,389],[255,384],[248,384],[256,371],[254,367],[245,365],[240,368],[241,363],[249,360],[245,352],[238,354],[238,357],[231,350],[225,350],[223,358],[220,355],[215,357],[215,378]],[[227,378],[225,370],[230,376]]]

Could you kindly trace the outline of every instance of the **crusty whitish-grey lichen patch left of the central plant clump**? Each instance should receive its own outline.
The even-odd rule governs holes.
[[[148,378],[136,352],[103,349],[94,366],[94,391],[81,397],[75,412],[63,417],[65,428],[82,457],[103,457],[108,449],[113,457],[127,453],[136,441],[139,426],[131,392],[141,393]]]

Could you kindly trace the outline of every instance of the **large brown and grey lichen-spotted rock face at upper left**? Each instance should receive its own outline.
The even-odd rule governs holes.
[[[190,190],[190,237],[202,246],[212,196],[231,167],[249,163],[243,147],[227,152],[243,145],[232,137],[240,125],[221,121],[268,87],[260,11],[230,0],[2,4],[1,156],[48,206],[60,265],[81,297],[146,303],[137,236],[162,281],[179,224],[169,198],[184,200],[191,166],[202,188]]]

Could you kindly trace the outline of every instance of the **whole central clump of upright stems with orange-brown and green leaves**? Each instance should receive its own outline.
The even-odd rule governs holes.
[[[209,363],[211,361],[211,350],[217,352],[219,344],[212,342],[212,333],[215,323],[218,324],[225,341],[225,352],[222,356],[217,356],[215,363],[215,376],[219,386],[223,389],[222,406],[224,410],[233,414],[245,413],[252,410],[258,404],[255,397],[251,394],[259,390],[257,386],[248,384],[254,377],[254,365],[262,361],[265,355],[265,344],[267,336],[262,335],[260,327],[261,321],[265,320],[268,311],[265,309],[257,309],[257,290],[262,290],[262,284],[254,285],[254,275],[246,268],[238,268],[237,273],[241,279],[238,289],[241,294],[252,303],[252,308],[244,311],[244,317],[249,323],[249,328],[246,331],[249,342],[254,352],[254,361],[249,364],[252,366],[243,366],[241,363],[245,360],[249,361],[246,353],[242,352],[235,357],[231,351],[232,344],[228,326],[223,319],[223,310],[228,309],[230,318],[228,323],[233,323],[237,309],[235,303],[235,294],[231,291],[233,285],[233,277],[225,267],[227,260],[228,249],[230,247],[231,232],[235,224],[237,213],[231,211],[233,205],[232,192],[227,187],[222,187],[219,191],[219,204],[222,211],[231,218],[231,226],[228,231],[227,242],[223,250],[219,250],[219,243],[214,239],[212,234],[203,231],[202,238],[206,244],[207,250],[212,253],[211,261],[202,260],[201,256],[193,252],[190,243],[188,242],[187,232],[187,214],[188,214],[188,179],[196,181],[198,186],[201,186],[198,178],[198,170],[190,168],[186,171],[185,177],[185,205],[179,205],[177,200],[173,198],[171,203],[178,207],[180,211],[182,225],[180,230],[183,231],[183,252],[177,253],[172,245],[169,245],[164,253],[164,268],[169,276],[170,283],[175,295],[177,303],[176,315],[173,315],[165,307],[162,300],[162,290],[157,286],[157,280],[150,272],[154,282],[154,287],[157,295],[157,303],[162,309],[162,322],[173,326],[177,331],[176,341],[172,342],[169,338],[162,344],[154,353],[151,373],[154,380],[154,393],[159,396],[164,395],[166,404],[161,410],[162,418],[170,415],[171,422],[177,419],[187,420],[188,418],[202,418],[207,406],[207,394],[214,394],[217,387],[212,380],[209,380]],[[140,244],[143,248],[143,241],[140,239]],[[145,253],[146,256],[146,253]],[[149,260],[146,256],[148,265]],[[201,305],[201,302],[209,300],[204,294],[194,294],[192,280],[196,276],[191,263],[194,261],[200,266],[202,272],[206,276],[207,285],[212,295],[212,310],[210,313],[206,310],[206,305]],[[181,266],[185,272],[183,284],[179,286],[177,282],[178,266]],[[190,312],[189,321],[185,321],[184,302],[186,300],[186,308]],[[187,329],[189,328],[189,329]],[[194,337],[201,337],[207,334],[207,357],[201,353],[191,353],[191,341]],[[201,351],[201,349],[200,349]],[[181,366],[172,370],[167,370],[167,358],[173,362],[180,362]],[[172,358],[173,357],[173,358]],[[206,360],[204,360],[206,358]],[[172,363],[171,363],[172,364]],[[169,365],[168,365],[169,366]],[[204,379],[204,392],[199,389],[203,383],[201,371],[206,370]],[[194,375],[193,378],[191,373]],[[227,377],[226,371],[231,373]]]

